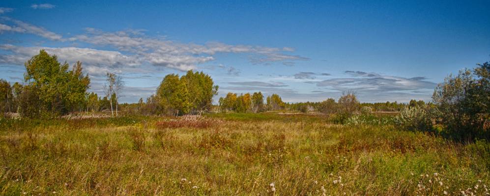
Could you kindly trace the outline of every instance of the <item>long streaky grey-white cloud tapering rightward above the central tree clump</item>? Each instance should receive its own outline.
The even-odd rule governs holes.
[[[105,32],[86,28],[85,34],[73,36],[69,40],[114,47],[121,51],[135,53],[153,65],[181,71],[196,69],[198,64],[215,60],[216,53],[248,53],[253,64],[271,62],[288,64],[294,60],[308,60],[299,55],[283,53],[291,52],[291,48],[227,45],[219,42],[209,42],[204,45],[185,44],[164,38],[148,37],[142,30]]]

